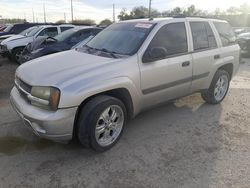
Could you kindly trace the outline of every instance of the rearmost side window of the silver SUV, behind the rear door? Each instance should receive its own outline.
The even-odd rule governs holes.
[[[223,46],[229,46],[236,43],[234,31],[228,23],[214,22],[214,25],[220,35]]]

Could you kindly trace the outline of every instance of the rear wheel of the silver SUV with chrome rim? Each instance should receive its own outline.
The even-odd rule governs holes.
[[[218,87],[217,87],[217,84],[218,85],[220,84],[219,83],[220,78],[227,79],[227,83],[225,83],[226,85],[224,85],[223,89],[218,89]],[[226,80],[224,80],[224,82],[226,82]],[[229,76],[228,72],[225,70],[217,70],[209,89],[201,92],[201,96],[202,96],[203,100],[206,101],[208,104],[219,104],[226,97],[228,89],[229,89],[229,85],[230,85],[230,76]],[[223,92],[220,92],[220,91],[223,91]],[[216,95],[216,93],[217,93],[217,95]]]

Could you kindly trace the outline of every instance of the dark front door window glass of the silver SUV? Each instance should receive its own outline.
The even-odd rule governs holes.
[[[188,52],[185,24],[172,23],[163,26],[149,44],[147,52],[155,47],[165,48],[168,56]]]

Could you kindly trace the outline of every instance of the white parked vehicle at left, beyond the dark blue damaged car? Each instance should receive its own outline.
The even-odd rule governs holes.
[[[0,54],[2,56],[7,56],[9,59],[20,63],[20,56],[22,54],[23,49],[27,44],[33,42],[36,38],[39,37],[54,37],[65,31],[67,29],[71,29],[74,26],[56,26],[56,25],[43,25],[36,26],[32,29],[31,32],[27,33],[26,36],[23,35],[15,35],[3,40],[0,44]]]

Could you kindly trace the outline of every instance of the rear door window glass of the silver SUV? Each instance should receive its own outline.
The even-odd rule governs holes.
[[[205,50],[217,47],[214,33],[208,22],[190,22],[194,50]]]

